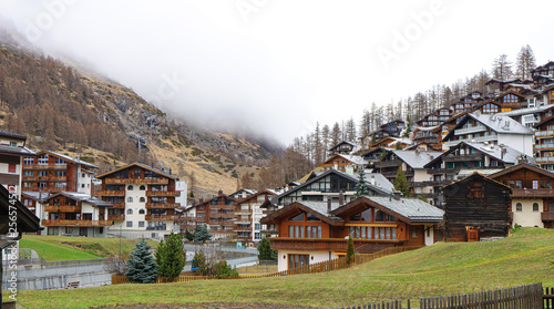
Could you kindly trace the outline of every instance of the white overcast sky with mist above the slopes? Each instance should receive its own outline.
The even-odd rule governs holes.
[[[1,0],[44,52],[170,115],[289,144],[312,130],[512,61],[554,60],[554,2]]]

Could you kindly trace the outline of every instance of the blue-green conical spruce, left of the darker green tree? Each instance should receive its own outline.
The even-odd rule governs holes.
[[[150,253],[152,247],[144,239],[136,243],[136,247],[127,259],[125,276],[134,284],[152,284],[157,278],[157,265]]]

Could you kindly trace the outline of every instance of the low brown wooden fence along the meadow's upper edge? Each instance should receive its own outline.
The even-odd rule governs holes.
[[[355,255],[355,265],[360,265],[365,264],[368,261],[372,261],[377,258],[403,253],[403,251],[410,251],[414,249],[419,249],[421,247],[391,247],[387,248],[384,250],[377,251],[375,254],[358,254]],[[302,275],[302,274],[317,274],[317,272],[324,272],[324,271],[331,271],[331,270],[338,270],[342,268],[347,268],[349,265],[346,262],[345,257],[339,257],[336,259],[327,260],[327,261],[320,261],[311,265],[306,265],[302,267],[298,268],[291,268],[283,271],[276,271],[276,272],[269,272],[269,274],[264,274],[260,276],[244,276],[240,275],[238,278],[228,278],[228,279],[252,279],[252,278],[260,278],[260,277],[281,277],[281,276],[291,276],[291,275]],[[195,281],[195,280],[209,280],[209,279],[217,279],[217,277],[214,276],[179,276],[176,277],[173,281],[171,282],[186,282],[186,281]],[[157,278],[156,284],[162,284],[162,282],[167,282],[161,278]],[[131,281],[127,279],[125,276],[121,275],[112,275],[112,285],[121,285],[121,284],[131,284]]]

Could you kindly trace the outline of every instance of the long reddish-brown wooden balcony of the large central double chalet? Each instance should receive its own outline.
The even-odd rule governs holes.
[[[353,239],[355,249],[363,247],[368,244],[389,244],[391,246],[401,244],[407,240],[399,239]],[[271,249],[274,250],[329,250],[329,251],[346,251],[347,239],[342,238],[288,238],[273,237],[270,238]]]

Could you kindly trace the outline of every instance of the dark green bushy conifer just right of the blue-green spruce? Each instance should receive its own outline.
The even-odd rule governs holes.
[[[186,264],[186,250],[181,234],[170,234],[167,239],[160,243],[155,253],[157,276],[164,281],[172,281],[178,277]]]

